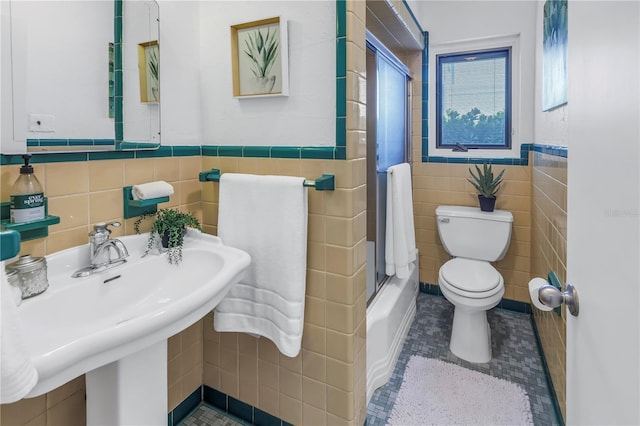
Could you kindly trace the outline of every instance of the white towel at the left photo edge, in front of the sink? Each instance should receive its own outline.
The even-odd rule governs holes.
[[[31,358],[22,340],[18,308],[0,262],[0,403],[22,399],[38,381]]]

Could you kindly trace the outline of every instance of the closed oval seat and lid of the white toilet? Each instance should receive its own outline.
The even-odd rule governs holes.
[[[460,296],[472,299],[491,297],[502,291],[502,275],[489,262],[455,258],[440,268],[441,284]]]

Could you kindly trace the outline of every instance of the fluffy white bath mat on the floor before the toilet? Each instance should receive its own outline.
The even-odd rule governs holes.
[[[414,355],[388,424],[532,425],[533,418],[529,397],[519,385]]]

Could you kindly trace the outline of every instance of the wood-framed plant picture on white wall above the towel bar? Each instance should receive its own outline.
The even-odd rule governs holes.
[[[233,96],[288,96],[287,21],[280,17],[231,26]]]

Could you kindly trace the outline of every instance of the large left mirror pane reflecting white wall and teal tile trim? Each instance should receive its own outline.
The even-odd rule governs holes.
[[[113,2],[12,0],[10,8],[14,139],[29,151],[113,148]]]

